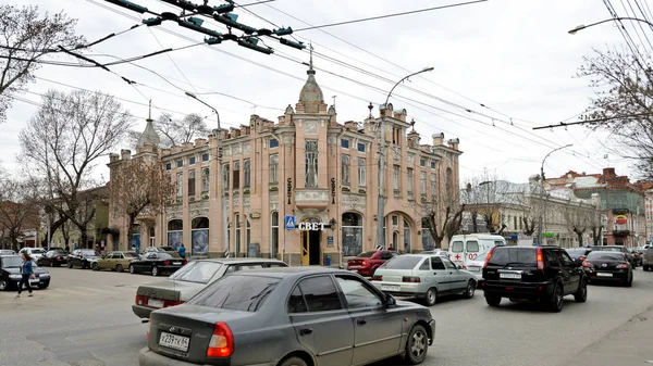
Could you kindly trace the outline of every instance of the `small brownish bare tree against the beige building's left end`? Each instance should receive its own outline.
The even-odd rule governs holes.
[[[110,186],[113,215],[126,215],[130,220],[127,240],[139,215],[157,216],[175,191],[175,185],[160,164],[140,159],[121,161],[113,168]]]

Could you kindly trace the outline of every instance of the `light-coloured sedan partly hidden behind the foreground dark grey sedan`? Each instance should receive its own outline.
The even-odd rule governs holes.
[[[193,261],[164,281],[139,286],[132,311],[140,318],[148,318],[152,311],[183,304],[210,283],[231,273],[272,267],[287,267],[287,264],[266,258]]]

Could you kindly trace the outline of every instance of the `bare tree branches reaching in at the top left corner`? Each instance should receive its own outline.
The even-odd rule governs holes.
[[[34,80],[38,59],[54,48],[74,48],[85,42],[75,36],[76,20],[63,12],[39,15],[38,7],[0,5],[0,122],[7,119],[7,110],[13,97]]]

